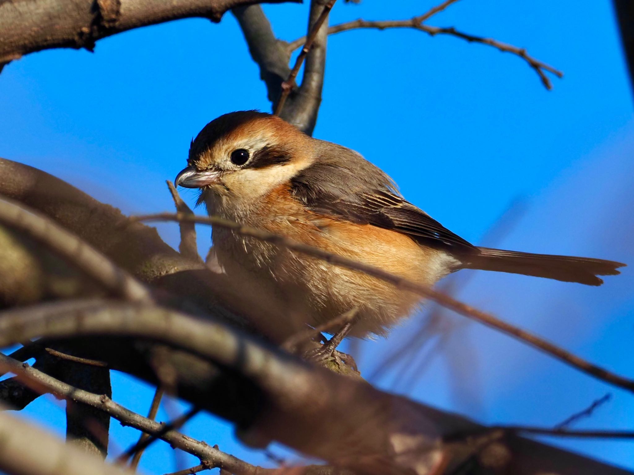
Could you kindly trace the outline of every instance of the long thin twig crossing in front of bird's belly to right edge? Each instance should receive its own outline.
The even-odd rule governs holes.
[[[373,267],[372,265],[367,265],[361,262],[356,262],[347,257],[343,257],[337,254],[329,253],[327,251],[321,250],[320,248],[316,248],[313,246],[309,246],[307,244],[299,243],[294,241],[293,239],[285,238],[284,236],[280,236],[278,234],[273,234],[268,231],[262,231],[261,229],[256,229],[250,226],[244,226],[233,222],[231,220],[223,219],[217,216],[188,216],[183,214],[172,214],[172,213],[158,213],[154,215],[144,215],[144,216],[136,216],[131,217],[132,220],[138,221],[175,221],[178,222],[180,220],[192,220],[201,224],[210,224],[217,225],[220,227],[224,227],[226,229],[231,229],[236,234],[240,234],[242,236],[250,236],[251,238],[259,239],[260,241],[264,241],[267,243],[275,244],[277,246],[281,246],[283,248],[287,248],[289,250],[297,251],[302,254],[309,255],[311,257],[318,258],[325,262],[328,262],[332,265],[337,265],[338,267],[344,267],[345,269],[357,270],[359,272],[363,272],[368,276],[376,277],[385,282],[390,282],[398,289],[406,290],[413,292],[417,295],[428,298],[429,300],[433,300],[436,303],[443,305],[446,308],[450,308],[454,312],[464,315],[465,317],[469,317],[470,319],[474,319],[482,324],[495,328],[502,333],[508,334],[513,338],[522,341],[523,343],[527,343],[528,345],[534,346],[539,350],[551,355],[559,359],[560,361],[570,365],[578,369],[579,371],[585,372],[590,376],[593,376],[605,383],[612,384],[614,386],[618,386],[619,388],[624,388],[628,391],[634,392],[634,381],[628,379],[623,376],[619,376],[613,372],[607,371],[606,369],[599,367],[595,364],[592,364],[573,353],[567,352],[566,350],[560,348],[557,345],[553,345],[550,341],[547,341],[539,336],[536,336],[532,333],[529,333],[525,330],[522,330],[518,327],[515,327],[512,324],[509,324],[503,320],[494,317],[491,314],[487,314],[486,312],[482,312],[482,310],[478,310],[477,308],[471,307],[466,303],[455,300],[455,298],[451,298],[448,295],[444,295],[443,293],[434,290],[429,286],[425,286],[422,284],[417,284],[416,282],[408,281],[408,279],[404,279],[403,277],[396,276],[389,272],[385,272],[385,270],[378,269],[377,267]]]

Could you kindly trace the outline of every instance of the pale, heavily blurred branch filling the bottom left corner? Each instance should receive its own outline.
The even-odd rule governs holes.
[[[34,447],[37,450],[34,453]],[[131,475],[6,413],[0,414],[0,471],[11,475]]]

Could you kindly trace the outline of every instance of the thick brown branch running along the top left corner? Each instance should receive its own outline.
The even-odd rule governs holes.
[[[281,3],[301,0],[266,0]],[[56,47],[92,50],[101,38],[178,20],[219,22],[224,12],[257,0],[34,0],[0,2],[0,65],[24,54]]]

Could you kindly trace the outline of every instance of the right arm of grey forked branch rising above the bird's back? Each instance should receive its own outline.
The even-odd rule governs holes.
[[[280,101],[275,106],[276,115],[308,135],[313,134],[321,105],[321,90],[326,70],[327,18],[334,3],[335,0],[328,0],[325,4],[324,0],[311,0],[306,43],[288,79],[281,85]],[[306,66],[304,66],[302,85],[299,89],[294,89],[295,77],[304,58],[306,58]],[[292,101],[285,106],[289,94],[292,94]]]

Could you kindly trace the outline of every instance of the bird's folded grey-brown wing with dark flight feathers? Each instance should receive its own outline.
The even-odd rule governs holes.
[[[382,170],[354,155],[344,162],[313,163],[292,179],[291,193],[315,213],[391,229],[456,255],[478,253],[475,246],[401,198]]]

